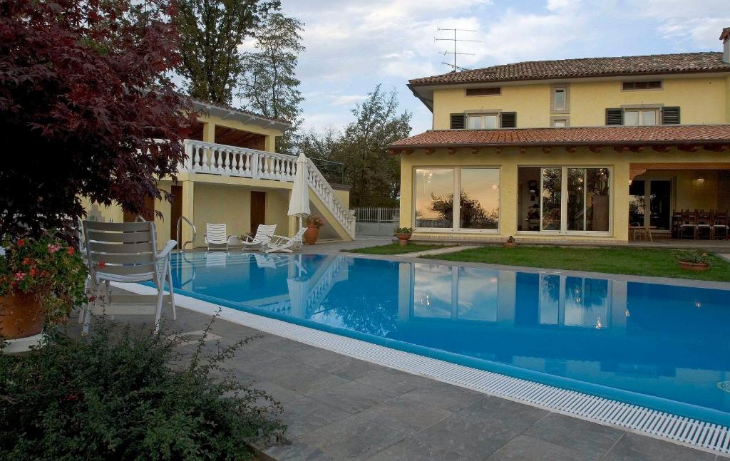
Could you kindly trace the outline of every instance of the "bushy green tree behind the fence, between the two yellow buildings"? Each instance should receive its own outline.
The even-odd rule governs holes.
[[[398,93],[380,85],[352,111],[356,120],[345,128],[340,158],[349,179],[353,206],[395,206],[401,186],[400,158],[386,150],[388,144],[406,138],[411,113],[398,112]]]

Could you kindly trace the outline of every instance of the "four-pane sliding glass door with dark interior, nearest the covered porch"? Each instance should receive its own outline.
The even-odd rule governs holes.
[[[610,179],[608,167],[518,168],[518,230],[609,233]]]

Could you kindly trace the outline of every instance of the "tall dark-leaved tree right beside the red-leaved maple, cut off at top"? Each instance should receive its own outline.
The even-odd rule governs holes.
[[[193,98],[231,104],[244,69],[239,45],[279,0],[177,0],[173,20],[180,34],[177,71]]]

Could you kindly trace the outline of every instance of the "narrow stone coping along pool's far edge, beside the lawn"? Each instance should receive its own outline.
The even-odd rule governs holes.
[[[439,260],[426,257],[405,255],[368,255],[364,253],[338,252],[337,254],[365,259],[396,261],[399,263],[422,263],[439,266],[459,266],[466,268],[488,268],[496,271],[528,272],[530,274],[554,274],[564,276],[586,277],[588,279],[612,279],[621,282],[650,283],[660,285],[675,285],[677,287],[710,288],[714,290],[730,290],[730,282],[716,282],[712,280],[675,279],[673,277],[657,277],[629,274],[609,274],[607,272],[572,271],[568,269],[537,268],[528,266],[507,266],[492,263],[469,263],[466,261]],[[729,258],[730,261],[730,258]]]

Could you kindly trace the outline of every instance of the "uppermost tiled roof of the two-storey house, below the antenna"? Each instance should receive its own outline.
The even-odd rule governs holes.
[[[723,53],[526,61],[410,80],[414,86],[730,71]]]

